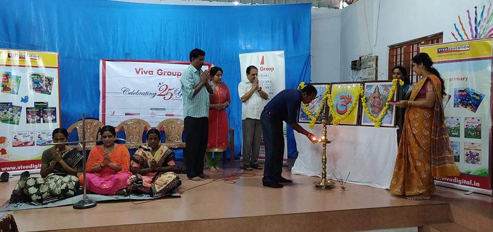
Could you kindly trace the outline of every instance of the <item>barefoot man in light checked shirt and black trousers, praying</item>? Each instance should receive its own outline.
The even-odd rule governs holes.
[[[190,65],[180,77],[186,144],[183,160],[188,179],[202,181],[208,178],[203,171],[204,154],[209,130],[209,95],[214,90],[208,80],[209,71],[202,71],[205,52],[196,48],[190,51],[189,58]]]

